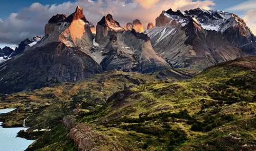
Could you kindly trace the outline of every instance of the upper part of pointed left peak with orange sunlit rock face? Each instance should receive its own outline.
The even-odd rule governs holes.
[[[82,13],[82,8],[77,7],[70,16],[56,15],[49,20],[45,27],[45,39],[42,46],[49,42],[63,42],[68,47],[92,47],[93,35],[88,20]]]

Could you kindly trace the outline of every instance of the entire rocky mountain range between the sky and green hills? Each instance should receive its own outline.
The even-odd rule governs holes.
[[[224,11],[163,11],[144,27],[139,20],[121,27],[108,14],[92,25],[77,7],[57,14],[45,36],[1,50],[0,92],[34,90],[75,82],[109,70],[154,73],[170,68],[202,71],[217,63],[256,54],[256,37],[243,19]],[[12,59],[10,59],[12,58]]]

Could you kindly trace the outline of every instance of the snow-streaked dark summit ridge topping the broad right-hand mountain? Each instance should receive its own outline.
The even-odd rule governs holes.
[[[217,32],[225,32],[229,27],[240,25],[245,25],[244,21],[238,16],[220,10],[205,10],[201,8],[186,10],[181,12],[180,10],[173,11],[169,9],[163,11],[162,16],[169,18],[169,21],[176,21],[182,26],[187,25],[189,22],[193,21],[205,30],[214,30]],[[161,17],[159,16],[159,18]],[[166,19],[159,19],[157,21],[164,22]],[[159,25],[156,23],[156,25]],[[160,24],[161,26],[162,24]],[[164,23],[165,25],[165,23]]]

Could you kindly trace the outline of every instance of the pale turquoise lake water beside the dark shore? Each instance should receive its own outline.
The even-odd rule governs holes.
[[[0,114],[8,113],[14,109],[0,109]],[[0,122],[0,125],[2,122]],[[24,151],[34,141],[16,137],[20,130],[26,130],[24,127],[3,128],[0,126],[0,151]]]

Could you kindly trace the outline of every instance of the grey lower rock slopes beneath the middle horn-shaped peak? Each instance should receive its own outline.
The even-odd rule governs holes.
[[[168,67],[165,59],[155,52],[143,33],[134,29],[123,34],[111,34],[110,42],[104,45],[101,61],[103,70],[135,71],[152,73]]]

